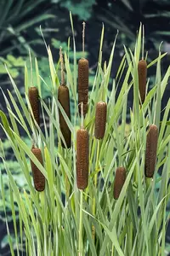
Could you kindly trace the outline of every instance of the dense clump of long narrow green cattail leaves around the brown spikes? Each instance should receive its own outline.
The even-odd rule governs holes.
[[[73,31],[72,19],[71,27]],[[6,216],[11,255],[14,255],[14,246],[17,255],[25,251],[26,255],[32,256],[165,255],[165,236],[169,219],[169,214],[166,215],[166,208],[170,197],[168,183],[170,126],[167,121],[170,101],[167,102],[162,119],[160,117],[161,99],[170,76],[170,67],[164,77],[161,77],[161,58],[165,55],[161,55],[161,52],[158,53],[156,60],[148,63],[148,69],[156,64],[156,82],[150,91],[146,91],[144,103],[140,106],[138,63],[141,55],[141,33],[140,27],[134,52],[124,48],[125,55],[117,70],[116,78],[111,78],[116,39],[111,49],[110,59],[103,67],[104,27],[102,29],[99,65],[94,84],[91,84],[92,90],[88,95],[88,113],[85,117],[82,114],[82,118],[85,118],[83,126],[89,135],[88,187],[84,190],[77,188],[77,157],[83,165],[83,155],[80,154],[82,151],[79,150],[85,147],[85,143],[81,145],[80,138],[77,137],[79,129],[77,125],[79,127],[80,118],[77,108],[77,52],[74,33],[73,70],[70,67],[69,55],[65,52],[66,81],[70,96],[74,101],[74,115],[71,116],[71,120],[59,104],[56,95],[58,84],[55,84],[55,81],[59,79],[50,48],[47,49],[53,86],[52,96],[48,103],[43,101],[40,93],[43,132],[38,125],[32,122],[32,116],[28,110],[27,93],[26,99],[20,96],[20,91],[8,73],[20,108],[15,104],[11,92],[8,91],[9,98],[4,97],[8,106],[10,123],[3,111],[0,111],[1,125],[14,151],[15,158],[20,164],[23,179],[28,184],[27,190],[23,188],[19,191],[13,177],[14,170],[8,167],[8,160],[5,158],[3,143],[1,143],[1,158],[8,177],[8,193],[14,221],[15,243],[13,245],[11,240],[13,235],[8,229]],[[148,70],[149,73],[150,70]],[[26,72],[26,76],[27,74]],[[108,90],[110,81],[113,84],[111,91]],[[42,80],[39,89],[44,86],[43,83]],[[118,96],[116,96],[117,86],[121,87]],[[28,84],[26,84],[26,91],[27,88]],[[133,88],[133,108],[130,109],[131,129],[126,134],[127,110],[129,110],[127,96],[131,88]],[[103,91],[105,92],[103,100],[107,102],[107,125],[103,139],[96,140],[94,137],[94,106],[99,102]],[[71,148],[62,148],[59,143],[60,140],[65,141],[59,127],[59,111],[71,131]],[[47,116],[49,124],[46,121]],[[156,125],[159,137],[155,174],[153,178],[147,179],[144,175],[148,133],[146,127],[151,124]],[[23,137],[20,137],[19,126],[26,131],[30,141],[33,134],[34,142],[42,152],[43,165],[32,154],[30,145]],[[29,159],[46,179],[46,186],[42,192],[34,189]],[[124,166],[126,169],[126,180],[122,184],[118,199],[115,200],[114,179],[119,166]],[[1,195],[5,211],[7,192],[4,191],[3,178],[2,175]],[[156,189],[157,187],[159,189]],[[19,210],[19,222],[15,218],[16,206]]]

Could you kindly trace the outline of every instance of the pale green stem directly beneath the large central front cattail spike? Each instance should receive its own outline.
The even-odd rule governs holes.
[[[79,219],[79,237],[78,237],[78,255],[83,254],[83,244],[82,244],[82,203],[83,203],[83,192],[80,190],[80,219]]]

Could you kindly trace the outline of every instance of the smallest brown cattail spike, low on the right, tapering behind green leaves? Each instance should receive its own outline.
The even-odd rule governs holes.
[[[126,169],[124,167],[118,167],[116,169],[115,182],[114,182],[114,199],[118,199],[121,194],[123,184],[126,180]]]

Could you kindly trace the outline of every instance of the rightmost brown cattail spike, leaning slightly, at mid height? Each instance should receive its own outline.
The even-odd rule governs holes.
[[[150,125],[149,132],[146,137],[145,151],[145,176],[153,177],[156,166],[156,149],[158,141],[158,129],[156,125]]]

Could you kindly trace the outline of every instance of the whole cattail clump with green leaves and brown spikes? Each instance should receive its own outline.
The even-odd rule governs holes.
[[[71,28],[73,31],[74,54],[77,55],[72,19]],[[131,74],[136,74],[133,76],[133,84],[138,84],[138,79],[140,79],[142,73],[140,67],[138,77],[138,63],[137,65],[131,65],[130,63],[134,63],[135,60],[144,60],[144,55],[139,57],[142,40],[141,26],[134,51],[125,48],[125,55],[117,68],[116,79],[111,76],[116,40],[113,43],[111,55],[108,56],[107,65],[105,62],[103,71],[100,68],[103,66],[104,34],[105,28],[103,26],[99,44],[99,65],[96,72],[94,71],[95,80],[90,97],[88,98],[88,79],[84,79],[85,72],[88,73],[88,69],[85,68],[84,71],[81,67],[79,73],[82,75],[82,82],[79,85],[85,90],[80,90],[82,95],[79,95],[79,102],[81,103],[79,103],[79,109],[77,108],[78,114],[75,113],[71,116],[71,124],[69,121],[69,92],[70,96],[73,96],[74,108],[77,106],[77,99],[72,81],[77,79],[77,70],[76,68],[72,69],[71,62],[67,61],[69,74],[65,79],[65,73],[61,72],[61,81],[57,88],[57,103],[59,107],[62,107],[59,108],[60,131],[58,124],[48,127],[48,122],[46,122],[46,119],[55,119],[56,117],[56,112],[51,111],[54,107],[53,103],[56,101],[54,88],[51,87],[51,97],[48,103],[43,102],[41,96],[39,98],[42,102],[44,132],[33,133],[35,144],[30,149],[28,148],[28,139],[31,138],[32,129],[28,128],[31,127],[32,122],[28,116],[29,112],[26,108],[25,99],[22,99],[20,90],[17,90],[17,84],[11,76],[15,96],[8,91],[10,97],[10,100],[8,100],[8,96],[5,96],[3,91],[7,113],[3,113],[3,110],[0,109],[0,125],[3,128],[2,131],[6,134],[7,140],[0,140],[0,167],[3,171],[0,172],[0,200],[2,200],[0,206],[5,211],[2,219],[7,226],[8,247],[11,255],[22,255],[24,253],[26,256],[155,256],[165,255],[168,252],[166,232],[169,215],[166,209],[170,199],[169,173],[167,170],[170,166],[170,157],[167,157],[170,136],[166,124],[170,108],[169,102],[167,102],[167,108],[162,117],[161,136],[159,136],[161,154],[157,154],[157,159],[157,130],[159,128],[156,125],[151,125],[150,130],[147,129],[146,133],[143,124],[147,124],[148,119],[152,117],[156,120],[156,122],[154,121],[156,124],[160,122],[160,101],[161,97],[165,96],[167,92],[166,86],[168,85],[168,79],[170,79],[169,67],[167,67],[164,76],[163,74],[160,76],[160,72],[157,72],[157,70],[161,70],[161,59],[163,58],[161,52],[159,52],[159,57],[155,61],[150,62],[153,69],[156,63],[155,80],[161,84],[161,95],[159,88],[154,84],[155,90],[150,92],[147,104],[142,105],[141,101],[144,102],[144,98],[139,96],[139,88],[134,86],[133,105],[135,108],[134,111],[130,109],[130,124],[127,124],[129,119],[129,116],[127,116],[127,113],[129,113],[127,101],[131,96],[132,88]],[[70,39],[68,40],[69,45]],[[54,56],[49,47],[47,47],[47,50],[49,71],[54,81]],[[69,59],[67,55],[71,56],[69,51],[70,49],[68,49],[68,53],[65,53],[64,60]],[[84,59],[80,61],[83,62]],[[61,58],[60,62],[62,62]],[[85,63],[88,65],[87,61]],[[130,64],[127,68],[126,63]],[[142,61],[140,61],[139,66],[142,65],[141,63]],[[64,64],[61,63],[62,70],[64,70]],[[42,83],[38,82],[38,67],[41,67],[41,65],[37,65],[37,60],[35,67],[34,75],[37,77],[37,88],[40,94]],[[103,75],[103,72],[105,75]],[[26,90],[27,81],[32,80],[30,78],[31,73],[27,72],[25,66]],[[44,80],[44,78],[42,79]],[[83,85],[84,80],[87,81],[85,85]],[[66,87],[65,83],[67,81],[71,84],[71,90],[69,86],[69,90]],[[110,81],[113,81],[113,86],[109,86],[110,90],[108,91],[108,86],[105,85]],[[101,88],[99,84],[105,85]],[[103,92],[102,89],[104,89]],[[83,94],[84,91],[85,94]],[[99,95],[100,92],[102,92],[101,96]],[[84,95],[87,96],[86,101],[84,101]],[[143,111],[139,111],[139,97],[141,97],[140,104]],[[36,98],[38,99],[38,94]],[[19,102],[16,102],[15,99],[19,99]],[[32,102],[35,103],[36,101],[33,100]],[[81,114],[79,114],[80,104],[82,105]],[[149,108],[150,105],[151,108]],[[95,107],[96,109],[94,109]],[[85,116],[87,109],[88,114]],[[96,113],[94,113],[94,110]],[[109,112],[109,114],[107,113],[107,120],[106,112]],[[26,120],[23,119],[23,116],[26,117]],[[36,123],[33,113],[32,118]],[[77,128],[77,122],[81,118],[82,123]],[[84,122],[83,119],[85,119]],[[122,125],[117,127],[120,120]],[[105,126],[105,121],[107,121],[107,126]],[[58,131],[60,135],[62,132],[61,137],[65,143],[65,148],[69,147],[71,133],[68,127],[71,128],[71,131],[76,131],[76,134],[74,133],[73,147],[65,150],[61,148],[60,144],[58,147],[55,135]],[[68,141],[65,129],[68,129],[69,132]],[[124,131],[127,130],[128,135],[125,135]],[[26,138],[23,137],[22,131],[26,131]],[[106,131],[110,136],[106,137]],[[93,134],[95,137],[93,137]],[[104,139],[100,140],[99,138],[102,137]],[[141,152],[141,150],[137,150],[137,148],[142,147],[139,138],[143,143],[146,137],[146,152]],[[44,148],[44,159],[42,148],[40,149],[37,146],[37,142],[47,145],[47,148],[46,146]],[[14,152],[12,164],[11,160],[8,162],[8,153],[10,153],[8,147]],[[5,150],[7,151],[6,154]],[[27,162],[27,157],[31,157],[31,164],[30,161]],[[158,182],[152,182],[152,178],[149,177],[153,176],[156,160],[159,163],[158,166],[161,166],[161,173],[155,173],[154,177],[157,177]],[[124,162],[127,163],[127,166],[123,164]],[[117,166],[117,163],[121,164]],[[140,175],[142,171],[140,163],[145,164],[145,171],[143,170],[146,175],[146,177],[144,175],[145,183],[140,178],[142,176]],[[44,164],[45,169],[41,168]],[[13,172],[14,169],[17,170],[18,179]],[[113,169],[115,177],[113,177]],[[32,188],[28,178],[31,170],[33,174],[32,183],[35,189]],[[21,177],[21,181],[25,180],[27,182],[26,187],[23,183],[20,183],[19,177]],[[74,177],[76,180],[74,180]],[[110,191],[110,181],[112,180],[114,182]],[[77,183],[76,186],[75,183]],[[46,185],[47,188],[45,188]],[[43,189],[42,193],[37,192]],[[129,193],[127,199],[123,200],[125,190],[128,190]],[[154,191],[156,191],[156,194]],[[8,207],[12,209],[12,211],[9,210],[11,218],[13,218],[14,229],[13,227],[10,229],[10,219],[7,216]]]

